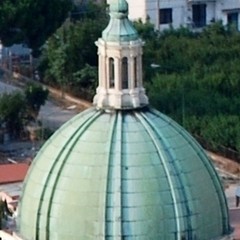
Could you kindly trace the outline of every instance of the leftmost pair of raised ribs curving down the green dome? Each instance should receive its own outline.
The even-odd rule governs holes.
[[[79,137],[81,137],[81,135],[86,131],[86,129],[89,127],[89,125],[95,121],[95,119],[101,115],[101,112],[96,112],[93,111],[93,114],[91,116],[89,116],[89,118],[87,120],[85,120],[85,122],[79,126],[79,128],[76,129],[76,131],[72,134],[72,137],[70,139],[68,139],[68,141],[65,144],[65,147],[61,149],[61,151],[59,152],[59,154],[57,155],[56,159],[54,160],[52,166],[50,167],[50,170],[48,172],[48,176],[46,178],[45,184],[43,186],[43,191],[40,197],[40,202],[39,202],[39,206],[38,206],[38,211],[37,211],[37,222],[36,222],[36,236],[35,239],[39,240],[40,239],[40,217],[41,217],[41,210],[42,210],[42,206],[43,206],[43,201],[47,192],[47,186],[49,181],[51,180],[51,178],[53,178],[52,176],[52,172],[54,172],[54,170],[57,167],[57,164],[59,163],[61,157],[63,156],[63,154],[65,154],[64,159],[62,160],[60,167],[59,167],[59,172],[62,171],[64,164],[66,163],[66,160],[68,159],[68,154],[71,152],[73,146],[75,146],[77,140],[79,139]],[[66,146],[70,146],[69,150],[64,153]],[[53,184],[53,190],[51,192],[50,195],[50,199],[49,199],[49,206],[48,206],[48,210],[47,210],[47,215],[46,215],[46,240],[49,240],[49,233],[50,233],[50,229],[49,229],[49,224],[50,224],[50,213],[51,213],[51,206],[52,206],[52,199],[54,196],[54,192],[56,189],[56,185],[59,179],[59,176],[61,174],[58,174],[55,179],[53,180],[54,184]]]

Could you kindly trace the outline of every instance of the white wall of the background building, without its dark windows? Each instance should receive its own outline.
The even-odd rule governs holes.
[[[141,18],[146,21],[147,16],[155,25],[156,29],[164,30],[173,26],[192,26],[192,4],[205,3],[207,5],[206,23],[211,24],[214,20],[222,20],[227,24],[227,13],[232,11],[240,12],[239,0],[127,0],[129,3],[129,18],[136,20]],[[159,26],[159,8],[172,8],[172,24],[161,24]],[[240,15],[238,20],[238,29],[240,30]]]

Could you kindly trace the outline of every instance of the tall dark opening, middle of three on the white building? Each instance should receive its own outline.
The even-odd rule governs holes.
[[[206,4],[192,5],[192,21],[194,27],[206,26]]]

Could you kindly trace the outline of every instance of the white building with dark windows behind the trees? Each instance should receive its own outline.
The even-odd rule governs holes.
[[[142,19],[145,22],[149,18],[160,31],[170,26],[173,28],[184,26],[197,30],[219,20],[224,25],[235,24],[240,30],[239,0],[127,1],[130,19]]]

